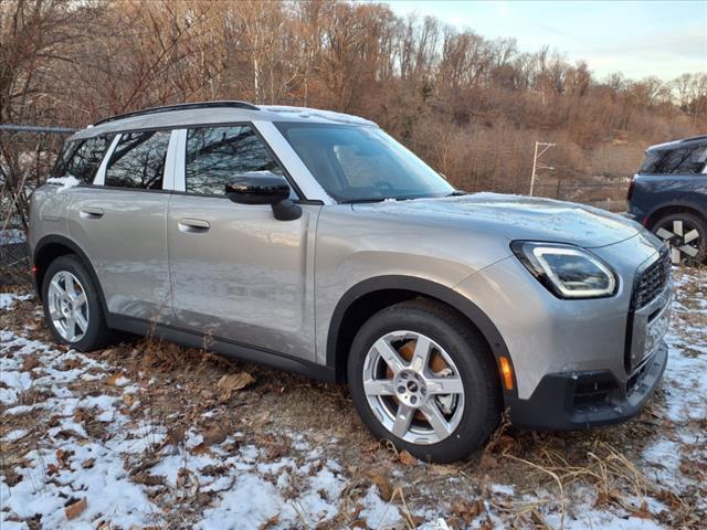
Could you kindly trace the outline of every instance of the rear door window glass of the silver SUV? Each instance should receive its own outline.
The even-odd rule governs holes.
[[[161,190],[169,130],[124,132],[106,168],[105,186]]]

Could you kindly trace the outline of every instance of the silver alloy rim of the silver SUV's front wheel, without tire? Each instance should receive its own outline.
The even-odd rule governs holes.
[[[414,331],[379,338],[363,362],[363,391],[380,423],[413,444],[436,444],[458,426],[464,385],[440,344]]]

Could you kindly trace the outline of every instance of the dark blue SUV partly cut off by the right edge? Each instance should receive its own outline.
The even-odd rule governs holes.
[[[629,216],[671,247],[674,264],[707,257],[707,136],[652,146],[629,189]]]

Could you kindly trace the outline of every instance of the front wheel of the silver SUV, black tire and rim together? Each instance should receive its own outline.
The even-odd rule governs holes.
[[[421,353],[430,344],[428,362],[416,361],[424,359],[418,356],[420,344]],[[391,351],[399,356],[392,364],[382,359]],[[391,369],[394,364],[398,371]],[[498,425],[500,380],[486,341],[460,315],[434,301],[403,301],[373,315],[354,339],[347,369],[354,404],[371,433],[421,460],[464,458]],[[446,379],[444,386],[440,379]],[[445,428],[435,430],[429,420],[441,425],[434,409]]]

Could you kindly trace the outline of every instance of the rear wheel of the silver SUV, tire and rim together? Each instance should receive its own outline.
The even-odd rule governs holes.
[[[112,333],[106,326],[97,287],[75,255],[60,256],[50,264],[42,285],[42,300],[46,325],[57,343],[91,351],[110,342]]]

